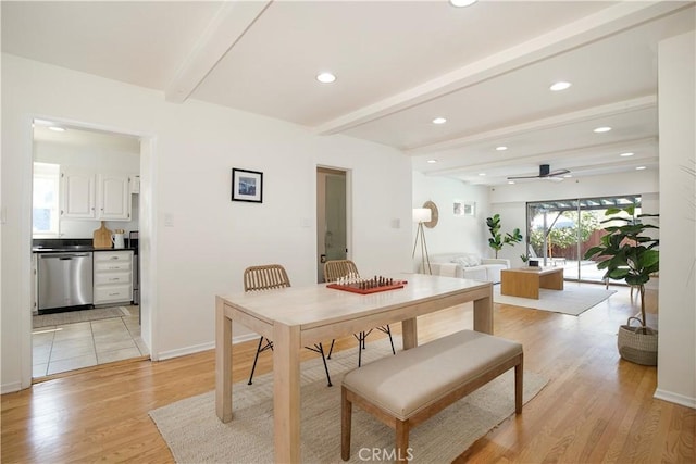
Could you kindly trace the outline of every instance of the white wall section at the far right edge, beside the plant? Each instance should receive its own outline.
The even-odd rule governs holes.
[[[696,34],[660,43],[660,296],[656,397],[696,407]]]

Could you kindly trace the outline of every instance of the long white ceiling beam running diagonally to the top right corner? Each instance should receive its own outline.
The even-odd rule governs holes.
[[[314,128],[331,135],[424,103],[600,38],[687,8],[685,2],[620,2],[438,78],[347,113]]]

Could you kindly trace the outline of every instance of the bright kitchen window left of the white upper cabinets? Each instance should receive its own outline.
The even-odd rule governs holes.
[[[34,163],[33,235],[58,237],[60,165]]]

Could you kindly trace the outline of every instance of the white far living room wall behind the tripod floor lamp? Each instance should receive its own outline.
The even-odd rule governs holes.
[[[413,208],[423,208],[426,201],[433,201],[439,212],[439,221],[433,228],[425,227],[425,241],[428,254],[448,252],[470,252],[488,256],[486,217],[488,210],[488,190],[483,186],[471,186],[461,180],[447,177],[426,176],[413,172]],[[455,201],[475,202],[475,216],[455,216]],[[406,223],[413,230],[415,224]],[[419,246],[420,249],[420,246]],[[413,243],[411,243],[411,252]],[[420,251],[415,251],[413,269],[421,263]]]

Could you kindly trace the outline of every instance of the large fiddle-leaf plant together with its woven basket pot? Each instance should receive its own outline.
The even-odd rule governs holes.
[[[617,216],[625,212],[626,216]],[[635,208],[611,208],[605,213],[611,216],[601,222],[621,225],[605,227],[607,234],[601,243],[592,247],[585,259],[605,259],[597,263],[597,268],[606,269],[605,279],[624,280],[637,288],[641,296],[641,317],[629,317],[625,325],[619,327],[618,348],[621,358],[645,365],[657,365],[657,330],[647,326],[645,316],[645,284],[660,268],[660,252],[656,249],[659,239],[646,235],[648,229],[658,226],[645,224],[644,217],[657,217],[658,214],[639,214],[635,216]],[[632,327],[631,322],[638,321],[639,327]]]

